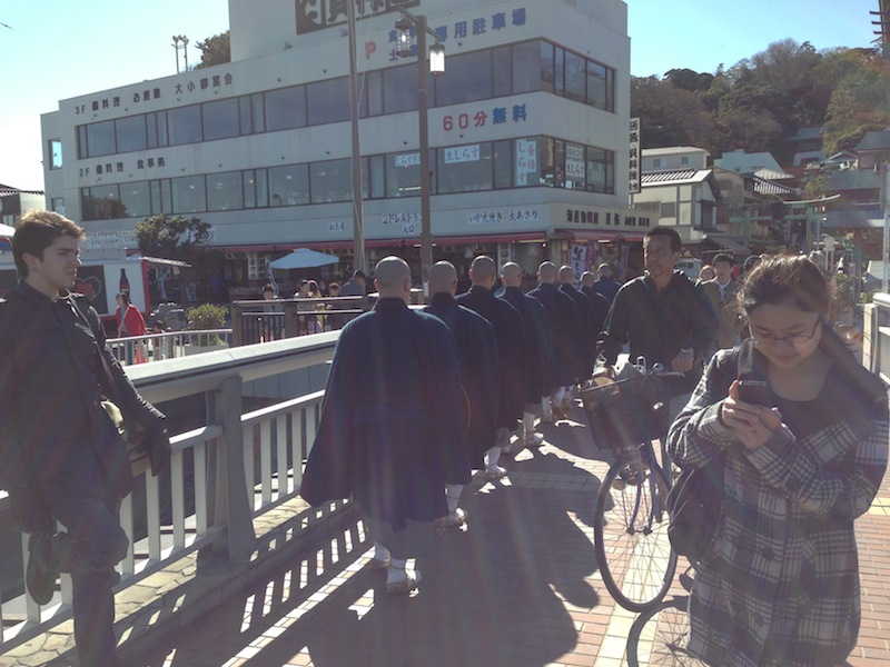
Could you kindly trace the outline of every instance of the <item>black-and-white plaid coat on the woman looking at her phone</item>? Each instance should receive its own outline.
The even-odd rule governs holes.
[[[853,519],[887,468],[887,394],[833,332],[820,345],[832,368],[812,415],[819,426],[803,437],[783,425],[746,452],[721,424],[732,380],[763,370],[751,341],[716,354],[671,426],[669,451],[681,467],[726,457],[721,526],[690,598],[689,650],[710,665],[840,665],[856,646]]]

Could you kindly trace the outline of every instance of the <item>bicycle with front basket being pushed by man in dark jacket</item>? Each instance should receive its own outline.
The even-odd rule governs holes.
[[[636,613],[664,598],[676,570],[665,508],[673,485],[665,450],[669,398],[659,380],[682,375],[665,372],[661,365],[649,371],[641,366],[627,379],[581,390],[594,445],[615,450],[596,497],[593,534],[600,573],[615,601]],[[653,439],[661,444],[664,467]]]

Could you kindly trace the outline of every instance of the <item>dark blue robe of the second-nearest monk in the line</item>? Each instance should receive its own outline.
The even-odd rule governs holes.
[[[497,340],[484,317],[459,306],[448,293],[433,295],[424,312],[448,327],[461,352],[461,381],[468,404],[469,454],[473,467],[482,468],[485,452],[495,445],[498,399]]]

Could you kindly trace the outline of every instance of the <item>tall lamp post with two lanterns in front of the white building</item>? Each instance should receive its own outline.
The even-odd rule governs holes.
[[[429,267],[433,266],[433,228],[429,213],[429,119],[427,106],[426,36],[435,38],[429,48],[429,73],[434,77],[445,73],[445,47],[439,36],[431,30],[425,16],[415,16],[398,8],[402,18],[396,21],[396,54],[411,56],[411,28],[417,33],[417,116],[421,132],[421,280],[426,287]]]

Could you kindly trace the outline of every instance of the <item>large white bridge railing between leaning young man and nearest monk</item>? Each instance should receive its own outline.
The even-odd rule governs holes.
[[[202,414],[189,415],[200,426],[174,434],[169,477],[134,480],[136,488],[120,512],[130,549],[119,566],[119,589],[209,545],[225,548],[230,558],[253,549],[253,520],[299,492],[324,392],[279,395],[273,405],[246,414],[243,400],[273,378],[281,387],[287,386],[284,376],[306,384],[300,374],[318,372],[323,382],[337,336],[318,334],[127,368],[147,400],[161,407],[192,400],[201,406],[194,412]],[[344,505],[334,504],[318,516]],[[21,544],[27,563],[27,536]],[[60,591],[43,607],[27,594],[0,604],[2,654],[70,617],[70,577],[62,576]]]

